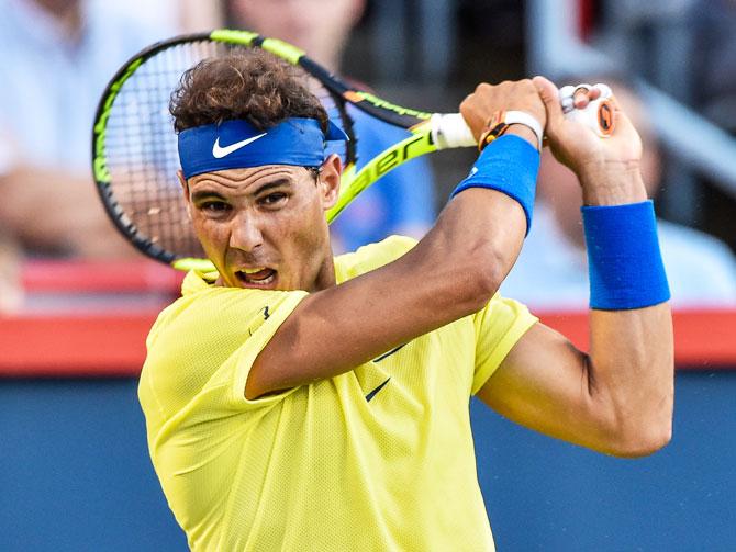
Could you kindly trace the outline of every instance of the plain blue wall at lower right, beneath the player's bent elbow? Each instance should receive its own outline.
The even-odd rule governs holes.
[[[473,402],[498,549],[736,550],[736,372],[680,372],[676,394],[672,442],[636,460],[548,439]]]

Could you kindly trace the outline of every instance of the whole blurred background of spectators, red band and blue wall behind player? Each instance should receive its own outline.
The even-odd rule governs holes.
[[[683,314],[673,441],[614,460],[473,402],[479,482],[499,550],[734,550],[734,0],[0,0],[0,550],[185,548],[136,399],[145,334],[181,275],[108,221],[91,125],[122,63],[220,26],[283,38],[426,111],[456,111],[480,81],[612,85],[645,142]],[[353,114],[364,160],[395,139]],[[475,155],[439,153],[375,184],[334,226],[336,250],[421,236]],[[537,202],[502,292],[557,313],[584,347],[580,190],[546,153]]]

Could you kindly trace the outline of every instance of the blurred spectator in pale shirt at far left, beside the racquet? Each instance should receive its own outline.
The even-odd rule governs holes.
[[[174,30],[123,8],[121,1],[0,0],[0,227],[33,254],[134,255],[97,196],[91,125],[116,68]]]

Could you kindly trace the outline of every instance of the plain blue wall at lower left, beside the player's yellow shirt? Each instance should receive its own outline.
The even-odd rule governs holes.
[[[133,380],[0,381],[0,550],[187,550]]]

